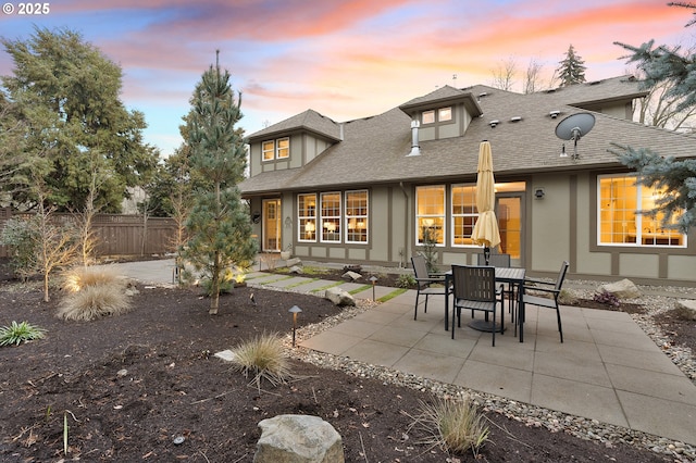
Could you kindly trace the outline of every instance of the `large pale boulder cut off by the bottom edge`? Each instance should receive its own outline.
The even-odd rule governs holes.
[[[278,415],[259,423],[254,463],[344,463],[340,435],[319,416]]]

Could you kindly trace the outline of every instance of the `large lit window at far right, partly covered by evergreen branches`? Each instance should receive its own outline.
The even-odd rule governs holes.
[[[647,214],[660,190],[639,185],[635,175],[602,175],[597,184],[599,245],[686,246],[684,234],[662,226],[663,214]]]

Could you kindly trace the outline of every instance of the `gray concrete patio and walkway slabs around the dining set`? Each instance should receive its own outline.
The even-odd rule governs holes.
[[[172,283],[173,261],[114,265],[144,283]],[[248,281],[297,291],[336,284],[265,273]],[[375,288],[377,298],[393,291]],[[372,299],[372,288],[355,296]],[[431,297],[417,321],[414,301],[409,290],[300,346],[696,445],[696,386],[626,313],[563,306],[561,343],[554,312],[527,306],[524,342],[508,329],[493,347],[490,334],[464,326],[470,314],[450,339],[444,297]]]

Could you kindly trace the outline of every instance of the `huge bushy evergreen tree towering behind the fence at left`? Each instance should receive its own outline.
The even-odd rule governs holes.
[[[119,212],[127,188],[139,185],[159,154],[142,141],[145,117],[127,111],[119,99],[121,67],[72,30],[36,28],[27,40],[2,38],[14,62],[2,77],[8,102],[24,128],[22,150],[51,161],[42,173],[58,211],[82,211],[100,186],[95,203]],[[16,151],[18,152],[18,151]],[[36,208],[28,173],[3,183],[17,209]]]

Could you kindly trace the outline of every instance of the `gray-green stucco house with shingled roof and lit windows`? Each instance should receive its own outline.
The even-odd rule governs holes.
[[[642,214],[659,192],[609,151],[616,142],[696,155],[696,136],[632,122],[644,96],[623,76],[530,95],[445,86],[345,123],[308,110],[249,136],[240,188],[265,252],[407,266],[428,227],[443,267],[474,263],[476,166],[488,140],[498,251],[513,265],[551,276],[568,260],[575,278],[696,285],[696,236]],[[575,113],[595,118],[576,158],[573,141],[556,136]]]

